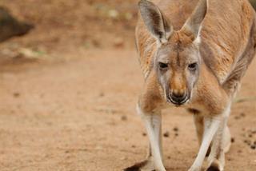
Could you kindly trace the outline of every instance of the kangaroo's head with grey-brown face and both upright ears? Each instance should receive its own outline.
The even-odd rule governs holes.
[[[190,100],[200,73],[200,28],[206,15],[206,0],[200,0],[178,31],[152,2],[142,0],[138,6],[147,30],[157,41],[154,70],[166,101],[182,105]]]

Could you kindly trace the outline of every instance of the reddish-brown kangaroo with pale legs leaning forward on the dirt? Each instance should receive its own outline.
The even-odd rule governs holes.
[[[161,109],[168,106],[193,113],[200,148],[188,170],[201,170],[206,157],[206,170],[224,170],[231,102],[255,54],[253,7],[248,0],[141,0],[138,7],[135,36],[145,85],[137,112],[150,150],[146,161],[125,170],[166,170]]]

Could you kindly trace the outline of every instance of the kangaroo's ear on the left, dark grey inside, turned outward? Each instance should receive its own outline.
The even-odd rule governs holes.
[[[161,10],[159,10],[158,6],[155,6],[152,2],[141,0],[138,2],[138,7],[142,20],[150,34],[160,43],[167,42],[173,32],[173,27]]]

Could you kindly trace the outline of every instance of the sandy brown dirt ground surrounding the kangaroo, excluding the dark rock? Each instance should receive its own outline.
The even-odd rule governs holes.
[[[136,1],[120,10],[131,11],[128,24],[126,19],[95,17],[91,6],[103,1],[80,6],[80,0],[40,0],[40,10],[33,10],[38,1],[11,2],[3,0],[0,5],[36,27],[25,37],[0,45],[0,170],[108,171],[142,161],[148,140],[135,113],[143,85],[133,47]],[[54,18],[72,6],[76,12]],[[108,6],[119,9],[114,3]],[[44,10],[53,14],[42,17]],[[86,18],[75,19],[76,14]],[[63,22],[66,19],[74,23]],[[110,24],[91,37],[82,30],[99,26],[90,22],[95,19]],[[86,20],[91,25],[82,26]],[[115,26],[120,29],[117,35]],[[256,170],[255,68],[256,59],[232,107],[229,125],[234,142],[226,154],[226,171]],[[166,169],[189,169],[198,152],[192,116],[185,109],[166,109],[163,133],[168,135],[162,137]]]

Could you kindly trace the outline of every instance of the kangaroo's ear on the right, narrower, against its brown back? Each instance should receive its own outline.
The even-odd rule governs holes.
[[[190,18],[188,18],[182,26],[182,30],[189,32],[194,35],[194,38],[198,38],[202,21],[206,16],[207,11],[207,0],[200,0],[195,10],[191,14]]]

